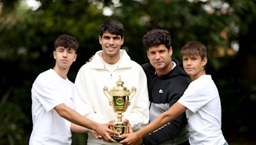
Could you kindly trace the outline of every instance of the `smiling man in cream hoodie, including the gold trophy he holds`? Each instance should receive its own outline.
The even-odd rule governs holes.
[[[97,123],[115,120],[113,130],[120,134],[127,132],[124,120],[129,120],[133,131],[140,130],[149,121],[145,72],[125,50],[120,50],[124,44],[124,26],[120,22],[106,20],[99,29],[102,50],[77,72],[76,111]],[[118,137],[113,139],[117,142],[104,142],[88,134],[87,144],[118,144]]]

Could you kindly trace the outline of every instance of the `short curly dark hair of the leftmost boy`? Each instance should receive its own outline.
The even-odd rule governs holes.
[[[61,36],[58,36],[58,38],[54,42],[55,50],[59,46],[63,46],[64,48],[72,48],[75,51],[77,51],[79,43],[76,38],[69,36],[67,34],[63,34]]]

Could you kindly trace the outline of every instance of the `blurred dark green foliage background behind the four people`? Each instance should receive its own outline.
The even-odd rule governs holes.
[[[100,50],[98,28],[114,18],[124,24],[124,48],[139,64],[147,62],[141,38],[151,29],[172,34],[173,57],[188,41],[207,46],[212,75],[220,91],[222,130],[230,144],[255,143],[256,4],[253,0],[40,0],[31,10],[24,0],[0,0],[0,144],[28,144],[32,129],[31,86],[36,76],[54,66],[54,39],[70,34],[80,43],[68,78]],[[204,6],[213,5],[213,12]],[[226,4],[226,5],[225,5]],[[223,6],[227,6],[223,9]],[[113,15],[102,14],[103,8]],[[231,49],[239,44],[239,51]],[[74,134],[73,144],[86,144]]]

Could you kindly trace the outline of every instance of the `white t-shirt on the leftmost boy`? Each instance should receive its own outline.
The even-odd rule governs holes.
[[[49,69],[39,74],[31,89],[33,131],[29,139],[35,144],[71,144],[70,121],[54,107],[64,103],[74,109],[74,83]]]

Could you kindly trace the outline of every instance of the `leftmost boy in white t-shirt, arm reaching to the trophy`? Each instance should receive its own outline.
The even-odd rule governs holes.
[[[72,144],[71,131],[91,130],[104,141],[114,141],[108,134],[113,132],[108,128],[113,123],[101,125],[74,111],[74,83],[67,73],[76,60],[78,41],[64,34],[54,46],[54,68],[39,74],[31,89],[33,130],[29,145]]]

